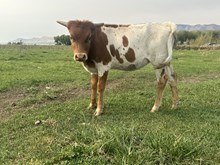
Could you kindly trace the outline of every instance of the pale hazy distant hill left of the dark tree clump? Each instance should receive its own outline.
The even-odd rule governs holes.
[[[10,41],[11,43],[22,42],[25,45],[55,45],[54,37],[35,37],[31,39],[18,38]]]

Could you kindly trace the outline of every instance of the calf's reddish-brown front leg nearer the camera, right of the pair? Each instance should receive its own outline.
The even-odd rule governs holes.
[[[104,90],[106,86],[107,77],[108,72],[105,72],[102,77],[98,77],[98,104],[95,116],[99,116],[104,108]]]

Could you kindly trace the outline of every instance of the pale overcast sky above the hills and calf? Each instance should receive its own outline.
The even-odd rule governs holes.
[[[0,43],[68,34],[57,20],[220,24],[220,0],[0,0]]]

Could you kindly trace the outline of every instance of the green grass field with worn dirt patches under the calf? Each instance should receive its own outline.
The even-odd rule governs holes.
[[[176,50],[173,65],[177,110],[167,87],[150,113],[148,65],[112,70],[94,117],[90,75],[70,47],[0,46],[0,164],[220,164],[220,50]]]

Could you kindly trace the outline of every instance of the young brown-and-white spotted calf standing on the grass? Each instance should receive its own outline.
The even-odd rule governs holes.
[[[172,108],[177,107],[177,79],[171,65],[173,23],[134,25],[94,24],[90,21],[57,21],[70,33],[74,60],[82,62],[91,73],[91,101],[95,115],[102,113],[103,92],[110,69],[135,70],[151,63],[157,77],[157,95],[151,112],[159,109],[168,81],[172,91]],[[96,97],[98,93],[98,101]]]

